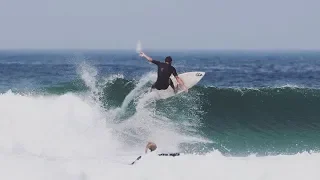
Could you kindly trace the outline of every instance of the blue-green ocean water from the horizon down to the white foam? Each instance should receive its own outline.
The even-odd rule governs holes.
[[[205,71],[206,75],[189,93],[141,106],[139,96],[153,80],[137,86],[155,74],[156,67],[135,52],[4,51],[0,53],[0,89],[25,96],[90,97],[108,113],[121,109],[114,119],[107,114],[106,121],[125,126],[139,118],[152,119],[175,128],[172,132],[178,135],[204,139],[179,142],[183,152],[218,150],[243,156],[318,151],[319,52],[150,53],[157,60],[172,55],[178,73]],[[126,141],[140,145],[137,139],[150,135],[149,125],[126,130],[132,135]],[[176,135],[168,135],[167,141]]]

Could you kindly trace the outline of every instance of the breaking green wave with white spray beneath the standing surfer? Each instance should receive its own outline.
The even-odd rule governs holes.
[[[89,78],[89,84],[79,80],[47,88],[44,92],[59,95],[95,92],[91,96],[104,111],[111,113],[110,109],[114,109],[111,119],[114,123],[122,123],[123,129],[119,125],[119,131],[126,129],[125,125],[131,127],[126,123],[133,122],[133,119],[140,122],[139,119],[146,118],[153,119],[150,122],[154,127],[157,121],[167,128],[169,126],[165,124],[175,128],[180,126],[188,135],[212,141],[202,142],[200,138],[191,143],[189,138],[188,143],[179,144],[185,152],[203,153],[218,149],[226,155],[270,155],[318,150],[320,147],[314,141],[318,138],[315,132],[320,127],[319,89],[295,84],[264,88],[196,85],[189,93],[150,101],[150,104],[146,97],[154,81],[151,76],[143,76],[150,79],[137,80],[124,79],[121,74],[94,81]],[[137,129],[146,127],[139,126],[125,130],[133,137],[130,141],[143,136]]]

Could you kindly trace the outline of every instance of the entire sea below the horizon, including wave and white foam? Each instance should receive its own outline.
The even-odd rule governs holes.
[[[4,63],[4,56],[10,61]],[[45,64],[40,57],[48,58]],[[90,59],[64,64],[69,57],[0,55],[2,179],[319,179],[316,66],[271,66],[275,57],[283,58],[278,55],[252,70],[257,63],[224,61],[234,54],[218,61],[206,55],[198,67],[194,61],[190,67],[178,62],[186,71],[215,62],[207,65],[201,83],[189,93],[156,100],[149,92],[156,73],[132,63],[134,58],[121,66],[116,60]],[[97,53],[88,57],[102,61]],[[302,57],[318,63],[316,54]],[[274,84],[272,69],[283,75]],[[285,76],[290,81],[281,81]],[[233,83],[240,77],[243,82]],[[157,143],[156,153],[182,154],[144,155],[147,141]],[[137,164],[129,165],[140,155]]]

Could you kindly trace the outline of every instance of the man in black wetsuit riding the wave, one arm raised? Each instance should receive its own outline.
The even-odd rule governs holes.
[[[151,89],[166,90],[170,85],[173,91],[176,93],[178,87],[174,87],[173,82],[170,78],[171,74],[173,74],[178,82],[178,85],[182,85],[185,91],[188,92],[188,88],[184,85],[182,79],[179,78],[176,69],[171,65],[171,56],[167,56],[164,60],[164,63],[152,59],[143,52],[140,52],[140,56],[146,58],[149,62],[152,62],[153,64],[156,64],[158,66],[157,81],[151,86]]]

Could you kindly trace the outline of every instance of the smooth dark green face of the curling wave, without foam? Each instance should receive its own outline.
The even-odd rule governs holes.
[[[117,77],[104,85],[100,100],[106,108],[122,107],[135,84]],[[145,88],[150,85],[148,82]],[[65,91],[69,91],[67,87]],[[232,155],[297,153],[320,146],[314,142],[320,123],[319,96],[318,89],[290,86],[256,89],[196,86],[188,94],[157,101],[155,111],[177,123],[196,121],[198,133],[215,141],[199,145],[199,150],[185,147],[188,152],[216,148]],[[137,108],[133,101],[128,104],[125,117],[133,115]]]

